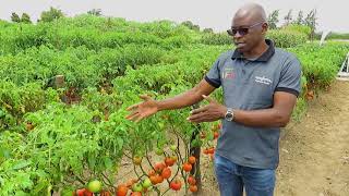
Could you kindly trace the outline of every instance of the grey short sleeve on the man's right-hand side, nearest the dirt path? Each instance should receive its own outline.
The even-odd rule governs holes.
[[[301,93],[301,63],[297,58],[292,58],[281,70],[280,79],[275,91],[286,91],[296,95]]]

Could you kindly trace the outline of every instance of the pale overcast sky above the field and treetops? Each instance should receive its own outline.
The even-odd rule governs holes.
[[[50,7],[58,8],[64,14],[73,16],[100,9],[104,15],[124,17],[132,21],[171,20],[182,22],[190,20],[201,27],[212,27],[216,32],[225,30],[237,9],[244,0],[0,0],[0,19],[10,20],[12,12],[26,12],[36,21],[41,11]],[[309,13],[317,9],[318,30],[349,33],[349,0],[260,0],[267,14],[280,10],[282,22],[287,12],[293,10]]]

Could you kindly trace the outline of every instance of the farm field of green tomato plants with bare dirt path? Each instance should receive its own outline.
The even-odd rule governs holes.
[[[267,37],[303,71],[276,195],[348,195],[349,86],[335,77],[349,44],[320,47],[297,29]],[[220,122],[192,124],[189,107],[134,123],[125,109],[139,95],[192,88],[231,49],[228,35],[170,21],[0,21],[0,195],[216,195]],[[221,101],[221,89],[212,97]]]

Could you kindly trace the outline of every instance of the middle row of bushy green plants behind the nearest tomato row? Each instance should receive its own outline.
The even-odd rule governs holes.
[[[85,88],[123,75],[128,65],[136,69],[166,61],[166,52],[158,46],[139,45],[100,51],[86,47],[59,51],[41,46],[0,57],[0,77],[16,85],[41,82],[45,86],[55,75],[64,75],[68,86]]]

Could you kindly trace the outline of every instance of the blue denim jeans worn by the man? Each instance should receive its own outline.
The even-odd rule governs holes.
[[[273,196],[275,170],[255,169],[236,164],[215,155],[215,172],[221,196]]]

